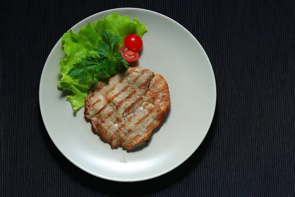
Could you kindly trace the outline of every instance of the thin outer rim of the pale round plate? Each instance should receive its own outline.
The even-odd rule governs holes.
[[[217,99],[217,91],[216,91],[216,79],[215,79],[215,75],[214,75],[214,70],[213,70],[213,67],[212,67],[212,64],[207,56],[207,53],[206,51],[204,50],[203,46],[200,44],[200,42],[197,40],[197,38],[192,34],[190,33],[185,27],[183,27],[181,24],[179,24],[177,21],[173,20],[172,18],[164,15],[164,14],[161,14],[161,13],[158,13],[158,12],[155,12],[155,11],[152,11],[152,10],[148,10],[148,9],[143,9],[143,8],[134,8],[134,7],[121,7],[121,8],[114,8],[114,9],[108,9],[108,10],[103,10],[101,12],[97,12],[95,14],[92,14],[90,16],[88,16],[87,18],[79,21],[78,23],[81,23],[82,21],[87,21],[89,18],[95,16],[95,15],[98,15],[98,14],[103,14],[105,12],[118,12],[118,11],[121,11],[121,10],[141,10],[141,11],[146,11],[146,12],[149,12],[149,13],[152,13],[152,14],[156,14],[156,15],[159,15],[161,17],[164,17],[166,18],[167,20],[170,20],[172,21],[173,23],[175,23],[179,28],[182,28],[184,31],[186,31],[187,33],[189,33],[189,35],[196,41],[196,43],[201,47],[201,51],[203,52],[208,64],[210,65],[210,71],[211,71],[211,75],[212,75],[212,80],[213,80],[213,88],[214,88],[214,107],[213,107],[213,110],[211,111],[211,120],[210,120],[210,124],[208,125],[208,128],[207,128],[207,131],[206,131],[206,134],[204,135],[203,139],[201,140],[200,144],[198,146],[196,146],[196,148],[188,154],[188,157],[182,161],[179,161],[177,162],[177,164],[175,164],[174,166],[162,171],[161,173],[157,173],[157,174],[154,174],[154,175],[151,175],[151,176],[147,176],[147,177],[143,177],[143,178],[136,178],[136,179],[118,179],[118,178],[112,178],[112,177],[107,177],[107,176],[102,176],[102,175],[99,175],[97,173],[93,173],[91,170],[88,170],[87,168],[81,166],[80,164],[76,163],[75,161],[73,161],[71,158],[67,157],[66,154],[64,154],[61,149],[59,148],[59,145],[57,143],[55,143],[54,139],[52,138],[50,132],[48,132],[48,129],[47,129],[47,126],[46,126],[46,123],[44,121],[44,116],[43,116],[43,109],[42,109],[42,106],[41,106],[41,103],[42,103],[42,99],[41,98],[41,91],[40,89],[42,89],[42,85],[43,85],[43,82],[42,82],[42,77],[44,75],[44,67],[45,65],[48,64],[48,61],[50,59],[50,57],[52,56],[52,53],[53,53],[53,50],[58,47],[59,45],[59,42],[61,41],[61,37],[59,38],[59,40],[56,42],[56,44],[54,45],[54,47],[51,49],[49,55],[47,56],[47,59],[45,61],[45,64],[42,68],[42,72],[41,72],[41,76],[40,76],[40,83],[39,83],[39,108],[40,108],[40,114],[41,114],[41,117],[42,117],[42,121],[43,121],[43,124],[44,124],[44,127],[49,135],[49,137],[51,138],[52,142],[54,143],[54,145],[57,147],[57,149],[59,150],[59,152],[68,160],[70,161],[72,164],[74,164],[75,166],[77,166],[78,168],[84,170],[85,172],[93,175],[93,176],[96,176],[98,178],[102,178],[102,179],[106,179],[106,180],[109,180],[109,181],[117,181],[117,182],[139,182],[139,181],[145,181],[145,180],[149,180],[149,179],[153,179],[153,178],[156,178],[156,177],[159,177],[159,176],[162,176],[174,169],[176,169],[178,166],[180,166],[181,164],[183,164],[185,161],[187,161],[195,152],[196,150],[200,147],[200,145],[202,144],[202,142],[204,141],[205,137],[207,136],[208,134],[208,131],[212,125],[212,121],[213,121],[213,118],[214,118],[214,114],[215,114],[215,110],[216,110],[216,99]],[[76,26],[78,23],[76,23],[74,26]],[[73,26],[73,27],[74,27]],[[73,27],[71,27],[70,29],[72,29]],[[70,30],[69,29],[69,30]],[[68,30],[68,31],[69,31]]]

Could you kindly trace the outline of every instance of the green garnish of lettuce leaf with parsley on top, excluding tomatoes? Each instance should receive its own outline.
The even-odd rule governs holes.
[[[60,61],[62,75],[58,87],[70,91],[66,99],[77,112],[84,106],[87,91],[97,81],[106,81],[112,75],[122,72],[128,66],[120,55],[120,47],[129,34],[142,37],[147,27],[138,19],[113,13],[93,24],[72,30],[61,37],[63,50],[67,55]]]

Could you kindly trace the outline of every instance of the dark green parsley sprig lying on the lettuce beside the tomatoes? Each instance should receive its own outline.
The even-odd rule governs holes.
[[[102,31],[102,41],[98,43],[97,53],[87,53],[85,58],[69,70],[67,75],[78,79],[105,81],[114,74],[122,72],[128,63],[121,57],[118,50],[114,50],[119,42],[118,35]]]

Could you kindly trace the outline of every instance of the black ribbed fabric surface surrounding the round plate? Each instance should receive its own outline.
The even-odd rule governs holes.
[[[176,20],[200,41],[216,77],[216,112],[200,148],[140,183],[98,179],[67,161],[38,103],[60,36],[117,7]],[[0,25],[1,197],[295,197],[294,0],[0,0]]]

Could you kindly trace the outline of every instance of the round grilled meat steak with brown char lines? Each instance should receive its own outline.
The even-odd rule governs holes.
[[[169,88],[158,74],[129,67],[107,83],[92,85],[85,99],[85,117],[93,131],[110,143],[132,149],[145,143],[170,107]]]

